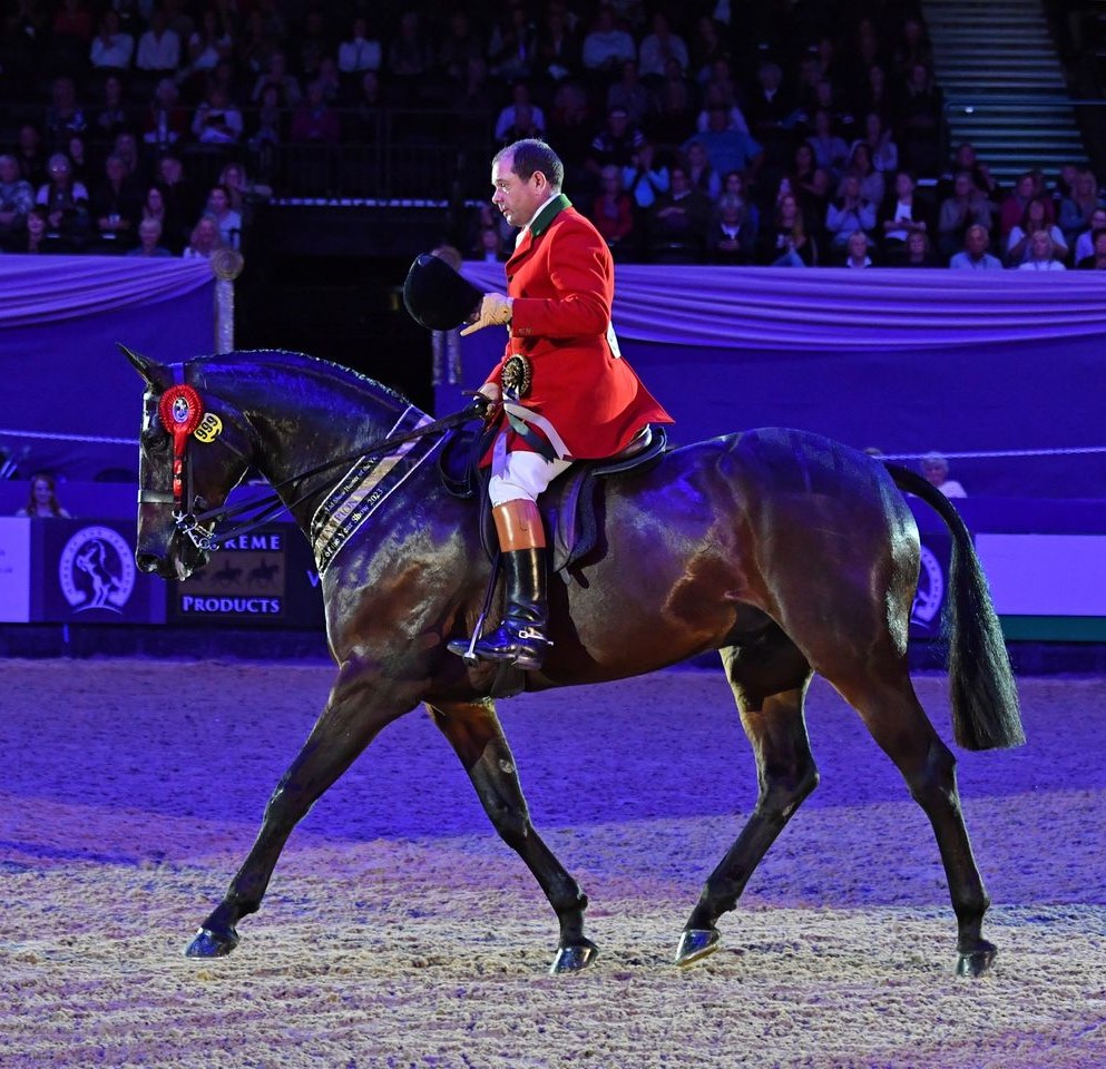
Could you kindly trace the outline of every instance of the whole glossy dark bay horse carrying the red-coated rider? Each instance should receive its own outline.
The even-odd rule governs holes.
[[[552,971],[588,965],[596,948],[584,934],[587,898],[530,822],[488,697],[495,668],[467,666],[446,649],[448,639],[471,632],[490,575],[476,506],[443,488],[431,462],[437,442],[423,444],[427,462],[398,450],[368,482],[349,474],[352,462],[317,470],[371,452],[410,421],[408,402],[292,353],[234,352],[173,366],[127,355],[147,383],[139,566],[166,579],[203,567],[203,538],[189,536],[174,512],[222,507],[256,468],[312,540],[339,666],[248,856],[187,953],[209,958],[235,948],[236,924],[260,908],[296,822],[386,724],[424,703],[496,831],[557,914]],[[180,399],[182,384],[206,413],[192,435],[172,423],[174,404],[184,411],[192,403]],[[176,458],[184,470],[174,487]],[[1018,745],[1009,660],[958,513],[921,477],[838,442],[761,429],[672,450],[647,471],[608,480],[601,539],[583,578],[551,583],[555,645],[540,673],[527,675],[527,689],[624,678],[717,649],[752,743],[756,805],[691,912],[678,964],[715,949],[718,919],[735,909],[761,857],[818,784],[803,712],[815,671],[860,714],[932,824],[957,918],[958,972],[979,974],[994,959],[981,934],[989,900],[960,811],[956,762],[908,673],[919,539],[900,488],[936,509],[952,536],[956,739],[972,749]]]

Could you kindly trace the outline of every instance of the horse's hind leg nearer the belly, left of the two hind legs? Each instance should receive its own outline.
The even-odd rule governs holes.
[[[721,650],[742,726],[756,758],[756,806],[737,840],[707,877],[684,926],[676,964],[688,965],[717,949],[715,923],[734,909],[761,859],[818,786],[818,768],[803,719],[811,668],[782,631],[752,647]]]

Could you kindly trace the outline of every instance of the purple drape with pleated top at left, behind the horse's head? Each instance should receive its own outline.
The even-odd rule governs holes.
[[[137,471],[141,381],[116,343],[164,362],[209,353],[214,294],[207,261],[0,256],[0,449],[20,475]]]

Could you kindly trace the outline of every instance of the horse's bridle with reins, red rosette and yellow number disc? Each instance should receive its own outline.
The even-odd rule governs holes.
[[[218,441],[247,467],[253,463],[253,460],[247,453],[223,438],[223,421],[219,416],[214,412],[204,411],[204,402],[198,391],[186,382],[187,364],[178,363],[169,366],[173,371],[174,384],[162,394],[157,403],[157,415],[162,425],[173,438],[172,489],[168,491],[148,490],[145,487],[139,487],[138,503],[172,504],[176,530],[186,536],[196,549],[206,552],[218,549],[222,542],[267,523],[278,512],[284,509],[294,509],[319,492],[319,488],[314,487],[286,502],[281,497],[282,490],[335,468],[345,468],[363,458],[388,453],[405,442],[428,438],[432,434],[442,434],[472,420],[482,420],[490,404],[483,394],[474,394],[466,408],[451,415],[423,423],[412,431],[391,434],[374,442],[369,448],[362,448],[356,452],[324,461],[306,471],[282,479],[280,482],[272,483],[270,492],[263,497],[235,506],[223,504],[208,509],[207,502],[196,494],[193,483],[193,464],[189,453],[192,440],[195,438],[204,444],[213,444]],[[216,528],[219,524],[235,517],[245,517],[245,519],[216,534]]]

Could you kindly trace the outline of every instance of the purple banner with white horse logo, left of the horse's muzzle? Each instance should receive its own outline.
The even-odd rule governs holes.
[[[65,624],[163,624],[165,586],[135,566],[135,524],[40,520],[31,555],[31,619]]]

